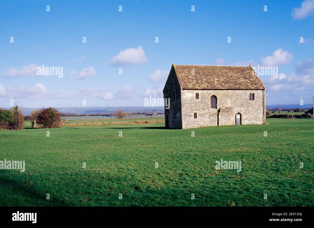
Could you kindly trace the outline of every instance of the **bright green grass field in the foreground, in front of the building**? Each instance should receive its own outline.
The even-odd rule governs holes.
[[[0,160],[26,166],[0,170],[0,206],[314,206],[314,119],[267,122],[0,130]],[[221,158],[242,171],[216,170]]]

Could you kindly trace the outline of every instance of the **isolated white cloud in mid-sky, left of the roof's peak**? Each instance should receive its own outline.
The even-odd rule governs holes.
[[[127,48],[124,51],[120,51],[118,55],[112,57],[110,63],[113,65],[125,65],[145,63],[146,61],[147,58],[142,46],[138,46],[137,48]]]

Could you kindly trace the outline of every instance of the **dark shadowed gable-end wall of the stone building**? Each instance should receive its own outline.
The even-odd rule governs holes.
[[[173,91],[175,91],[175,97],[173,96]],[[169,128],[181,129],[182,128],[181,88],[173,66],[170,70],[163,92],[164,98],[166,97],[170,98],[170,108],[166,109],[165,107],[165,122],[166,115],[168,115]]]

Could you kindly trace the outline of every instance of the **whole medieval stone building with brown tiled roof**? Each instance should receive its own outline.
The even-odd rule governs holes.
[[[172,64],[165,127],[264,124],[266,87],[250,66]]]

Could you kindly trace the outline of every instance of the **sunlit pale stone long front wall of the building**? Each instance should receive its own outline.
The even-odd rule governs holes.
[[[199,99],[195,94],[199,93]],[[249,101],[249,93],[255,100]],[[217,97],[217,109],[210,108],[210,97]],[[236,113],[241,113],[241,124],[263,124],[266,103],[262,90],[181,90],[182,128],[234,125]],[[220,112],[218,114],[218,110]],[[197,119],[193,113],[197,112]]]

